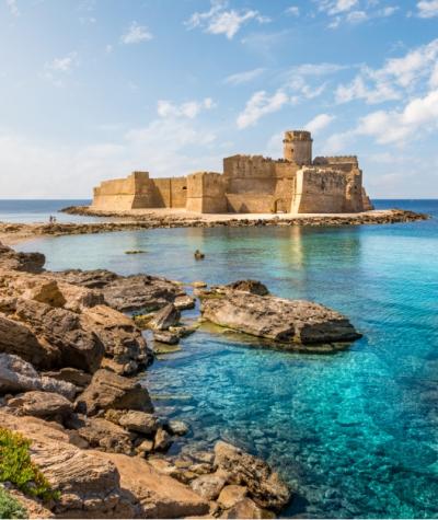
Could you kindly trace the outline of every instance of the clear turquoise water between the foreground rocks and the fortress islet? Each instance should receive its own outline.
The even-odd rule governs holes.
[[[53,269],[107,267],[193,281],[256,278],[346,313],[364,338],[315,356],[200,331],[158,360],[159,412],[187,444],[266,458],[302,496],[286,515],[438,517],[438,201],[377,201],[434,220],[351,228],[172,229],[26,243]],[[145,255],[125,255],[126,250]],[[200,249],[206,261],[195,262]]]

